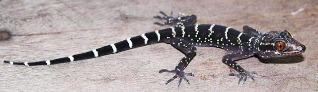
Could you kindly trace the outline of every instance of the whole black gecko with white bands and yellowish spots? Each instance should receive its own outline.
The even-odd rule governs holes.
[[[85,53],[55,60],[36,62],[3,60],[3,62],[26,66],[51,65],[97,58],[153,43],[164,42],[170,44],[185,55],[174,69],[159,70],[159,73],[167,72],[175,74],[171,79],[167,80],[165,84],[167,85],[174,79],[179,78],[177,83],[179,87],[182,79],[190,84],[186,76],[194,76],[193,73],[184,72],[184,69],[196,56],[196,47],[216,47],[229,52],[229,54],[223,56],[222,62],[238,72],[238,74],[230,73],[229,76],[238,77],[239,83],[241,81],[245,83],[248,77],[255,81],[252,74],[257,73],[255,71],[245,70],[236,61],[254,56],[264,59],[294,56],[300,55],[306,50],[305,45],[294,39],[293,34],[287,30],[262,33],[254,28],[243,26],[243,31],[240,32],[230,27],[216,24],[195,24],[197,17],[193,14],[185,15],[180,13],[177,17],[173,17],[172,11],[169,16],[162,11],[159,13],[163,16],[157,15],[154,16],[154,18],[164,20],[165,22],[155,22],[154,24],[159,26],[172,26],[171,28],[144,33]]]

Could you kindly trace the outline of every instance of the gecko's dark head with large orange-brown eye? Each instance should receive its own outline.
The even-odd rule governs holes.
[[[294,56],[304,53],[305,45],[293,38],[290,31],[269,31],[259,36],[258,55],[262,58]]]

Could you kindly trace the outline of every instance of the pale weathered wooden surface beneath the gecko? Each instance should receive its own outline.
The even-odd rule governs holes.
[[[290,30],[307,51],[297,63],[239,61],[255,70],[256,82],[238,85],[221,61],[225,51],[198,47],[186,72],[191,85],[164,85],[183,54],[159,43],[96,59],[55,65],[0,63],[0,92],[317,92],[318,0],[0,0],[0,28],[13,35],[0,41],[0,59],[42,61],[79,54],[128,37],[167,28],[154,25],[159,11],[196,14],[197,23],[242,30]],[[299,9],[300,12],[298,11]],[[292,13],[294,12],[294,13]],[[297,57],[296,57],[297,59]]]

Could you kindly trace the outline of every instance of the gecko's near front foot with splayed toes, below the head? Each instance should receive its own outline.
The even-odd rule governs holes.
[[[239,82],[243,80],[243,84],[247,80],[247,77],[251,78],[253,81],[255,81],[254,77],[251,74],[257,74],[256,71],[246,71],[239,72],[239,74],[230,73],[229,76],[236,76],[239,78]],[[244,79],[243,79],[244,78]]]

